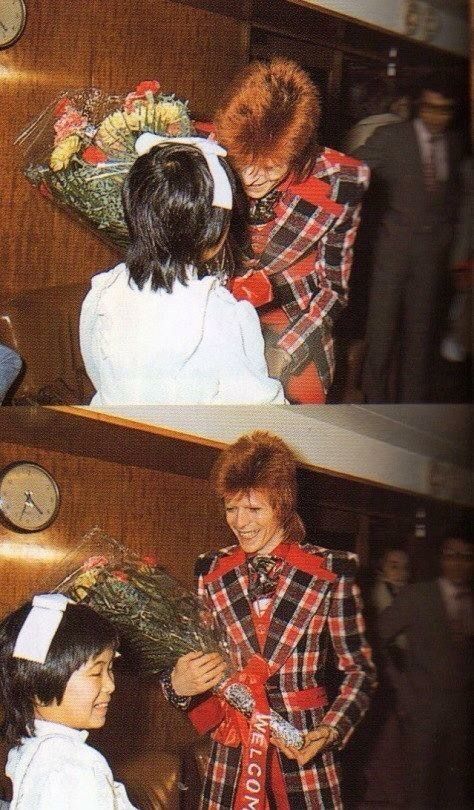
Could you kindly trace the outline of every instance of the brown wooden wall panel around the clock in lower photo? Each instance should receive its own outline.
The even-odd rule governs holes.
[[[207,481],[0,444],[0,466],[24,458],[37,461],[53,475],[61,505],[58,517],[44,531],[25,534],[0,526],[1,598],[8,605],[22,601],[38,587],[38,580],[49,576],[54,561],[46,552],[62,558],[95,525],[139,553],[157,553],[163,565],[189,585],[197,555],[225,543],[223,533],[230,539]],[[11,549],[6,557],[1,553],[5,543]],[[43,561],[35,561],[37,547]]]

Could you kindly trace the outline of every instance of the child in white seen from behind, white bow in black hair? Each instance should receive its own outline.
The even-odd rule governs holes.
[[[82,306],[91,404],[284,402],[254,307],[225,287],[235,192],[225,151],[149,133],[136,149],[123,188],[126,263],[95,276]]]

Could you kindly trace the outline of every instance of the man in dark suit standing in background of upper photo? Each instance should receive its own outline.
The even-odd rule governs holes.
[[[425,79],[412,121],[379,127],[355,151],[386,185],[388,205],[376,249],[362,388],[388,401],[393,351],[400,346],[396,398],[429,399],[428,370],[440,315],[443,271],[459,199],[461,143],[444,77]]]

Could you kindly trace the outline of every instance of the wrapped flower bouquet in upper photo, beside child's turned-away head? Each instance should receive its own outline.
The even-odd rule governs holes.
[[[96,88],[64,91],[15,143],[25,153],[26,177],[44,196],[123,248],[121,186],[144,132],[193,134],[187,102],[162,93],[157,81],[141,82],[124,96]]]

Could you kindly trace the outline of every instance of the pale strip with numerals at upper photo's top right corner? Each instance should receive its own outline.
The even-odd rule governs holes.
[[[290,0],[290,2],[301,3],[301,0]],[[459,56],[467,56],[469,52],[467,20],[453,10],[438,7],[438,5],[435,7],[427,0],[416,0],[413,3],[418,9],[419,24],[412,35],[407,34],[405,27],[407,0],[303,0],[303,4],[313,5],[321,10],[334,11],[396,34],[404,34],[409,36],[409,39],[419,42],[429,41],[432,45]],[[427,36],[424,25],[430,9],[434,10],[438,21],[438,31],[432,38]]]

